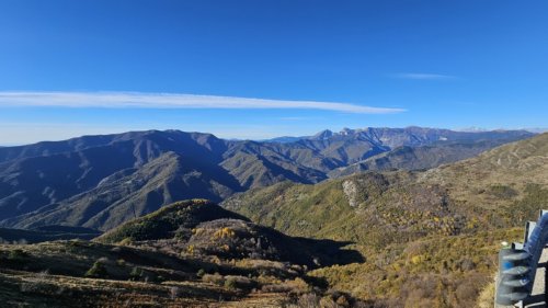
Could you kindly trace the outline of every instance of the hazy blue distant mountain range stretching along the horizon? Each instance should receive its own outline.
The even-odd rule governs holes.
[[[0,225],[109,230],[180,199],[220,202],[284,181],[313,184],[362,170],[429,169],[533,135],[345,128],[293,141],[243,141],[149,130],[4,147]]]

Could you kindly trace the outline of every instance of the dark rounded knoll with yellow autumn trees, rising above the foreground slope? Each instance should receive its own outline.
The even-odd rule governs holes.
[[[164,240],[178,250],[222,259],[255,258],[317,267],[320,264],[363,262],[350,242],[292,238],[205,199],[179,202],[134,219],[102,235],[103,243]],[[199,253],[198,253],[199,254]]]

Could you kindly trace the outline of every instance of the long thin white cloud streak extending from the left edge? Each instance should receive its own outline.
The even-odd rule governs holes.
[[[302,109],[388,114],[403,109],[350,103],[265,100],[233,96],[141,92],[0,92],[0,106],[141,109]]]

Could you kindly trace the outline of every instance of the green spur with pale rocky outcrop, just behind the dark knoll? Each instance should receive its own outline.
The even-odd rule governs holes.
[[[379,248],[476,228],[466,213],[450,206],[443,189],[415,182],[413,173],[393,172],[363,173],[317,185],[282,183],[235,196],[224,206],[293,236]]]

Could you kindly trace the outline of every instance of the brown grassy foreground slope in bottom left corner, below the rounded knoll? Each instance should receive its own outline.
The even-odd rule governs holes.
[[[98,260],[107,274],[85,277]],[[136,307],[145,303],[161,307],[171,301],[170,288],[189,281],[199,269],[198,264],[159,252],[87,241],[0,246],[0,299],[22,307],[73,307],[73,298],[79,298],[80,307],[123,307],[125,301]],[[134,269],[144,273],[142,277],[129,281]],[[150,283],[145,283],[145,277]],[[180,305],[216,303],[219,295],[235,295],[199,281],[189,283],[181,293]]]

